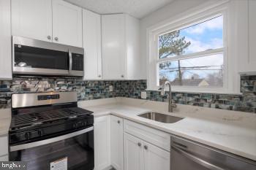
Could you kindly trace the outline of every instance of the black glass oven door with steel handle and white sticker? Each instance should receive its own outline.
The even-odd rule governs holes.
[[[10,147],[10,161],[26,161],[28,170],[94,169],[94,128]],[[65,169],[65,168],[63,168]]]

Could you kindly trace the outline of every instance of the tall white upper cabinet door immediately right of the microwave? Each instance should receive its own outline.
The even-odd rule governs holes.
[[[102,79],[100,15],[83,9],[84,79]]]

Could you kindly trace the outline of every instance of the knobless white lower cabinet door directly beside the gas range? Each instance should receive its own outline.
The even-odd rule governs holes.
[[[94,169],[110,166],[110,116],[94,119]]]

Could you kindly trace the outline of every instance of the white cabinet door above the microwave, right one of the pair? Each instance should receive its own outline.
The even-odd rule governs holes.
[[[82,47],[82,9],[53,0],[53,42]]]

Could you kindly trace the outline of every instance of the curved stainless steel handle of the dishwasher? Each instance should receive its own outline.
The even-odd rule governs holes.
[[[206,167],[207,169],[211,169],[211,170],[229,170],[229,169],[222,169],[219,166],[216,166],[212,163],[208,163],[207,161],[204,161],[201,158],[197,158],[195,155],[192,155],[184,150],[181,150],[180,148],[176,147],[176,146],[172,146],[173,150],[176,150],[179,154],[186,156],[187,158],[189,158],[191,161],[200,164],[201,166]]]

